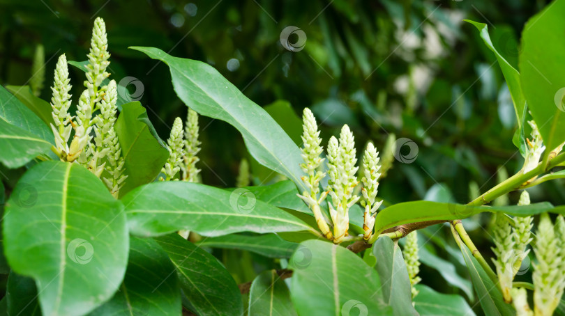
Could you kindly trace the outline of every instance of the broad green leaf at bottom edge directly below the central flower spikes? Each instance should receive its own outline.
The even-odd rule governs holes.
[[[320,240],[301,243],[289,260],[290,296],[299,315],[391,315],[377,271],[351,251]]]

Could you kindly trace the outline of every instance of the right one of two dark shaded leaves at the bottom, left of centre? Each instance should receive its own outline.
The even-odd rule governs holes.
[[[243,315],[239,288],[213,255],[177,234],[156,240],[169,254],[183,292],[197,315]]]

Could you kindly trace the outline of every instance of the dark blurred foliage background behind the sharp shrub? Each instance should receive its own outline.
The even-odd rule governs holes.
[[[69,60],[84,61],[93,19],[100,16],[107,25],[111,78],[119,82],[130,76],[141,81],[141,102],[163,139],[174,118],[186,116],[186,106],[172,90],[168,68],[129,46],[158,47],[173,56],[213,65],[251,100],[265,106],[298,145],[299,118],[306,106],[323,122],[324,147],[344,123],[354,131],[358,152],[369,140],[383,148],[389,134],[412,139],[419,148],[417,159],[412,164],[395,161],[381,182],[379,196],[387,203],[421,199],[466,203],[518,171],[523,159],[511,142],[515,114],[499,65],[474,26],[462,20],[488,24],[494,46],[518,68],[522,27],[545,4],[0,0],[0,84],[26,84],[33,52],[43,44],[47,79],[41,97],[50,100],[47,87],[52,84],[56,57],[65,53]],[[306,46],[300,52],[289,52],[280,44],[286,26],[306,33]],[[84,79],[77,69],[72,76],[76,99]],[[135,90],[133,84],[128,88]],[[218,120],[200,118],[200,124],[203,182],[234,187],[239,161],[250,158],[241,135]],[[279,179],[250,161],[254,184]],[[556,180],[531,189],[532,201],[564,204],[562,184]],[[496,203],[517,200],[518,193],[511,193]],[[466,221],[486,253],[491,246],[488,221],[488,216]],[[437,227],[421,233],[432,236],[439,246],[443,237],[450,237],[449,229]],[[430,254],[451,254],[456,263],[460,260],[453,245],[426,249]],[[242,257],[228,251],[224,256],[229,261],[251,260],[246,256],[255,255]],[[428,256],[428,266],[441,265],[433,262],[437,258]],[[441,269],[430,267],[423,267],[423,282],[441,286],[446,281],[432,277]],[[229,269],[238,282],[254,276],[238,271],[243,265]]]

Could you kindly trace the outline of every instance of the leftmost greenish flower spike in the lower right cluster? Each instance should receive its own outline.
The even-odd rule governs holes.
[[[506,301],[506,303],[510,303],[512,301],[510,291],[512,290],[512,281],[514,278],[513,261],[515,255],[511,225],[508,219],[506,219],[505,214],[496,214],[495,225],[492,229],[494,232],[494,242],[496,246],[492,247],[492,252],[496,255],[496,259],[492,258],[492,261],[495,262],[504,301]]]

